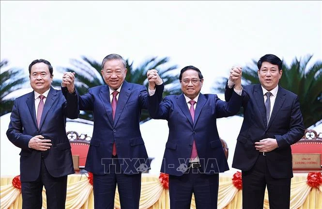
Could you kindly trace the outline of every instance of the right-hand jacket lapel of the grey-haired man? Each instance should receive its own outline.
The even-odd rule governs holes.
[[[115,118],[114,118],[114,126],[117,124],[120,116],[123,112],[123,109],[126,105],[127,100],[131,95],[132,86],[124,80],[122,84],[122,88],[120,91],[119,99],[117,100],[116,111],[115,111]]]

